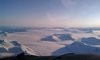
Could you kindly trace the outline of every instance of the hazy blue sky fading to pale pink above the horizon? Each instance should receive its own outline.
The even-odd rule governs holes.
[[[100,0],[0,0],[0,26],[99,27]]]

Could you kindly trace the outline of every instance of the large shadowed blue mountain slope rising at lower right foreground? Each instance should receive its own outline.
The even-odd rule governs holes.
[[[93,47],[89,45],[85,45],[81,42],[73,42],[70,45],[66,45],[63,48],[60,48],[53,52],[52,55],[62,55],[66,53],[76,53],[76,54],[100,54],[99,47]]]

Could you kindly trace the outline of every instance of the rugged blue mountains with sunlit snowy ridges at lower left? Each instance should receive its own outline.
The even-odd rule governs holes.
[[[0,32],[0,57],[12,56],[20,53],[36,55],[32,49],[20,44],[18,41],[7,41],[5,32]],[[31,52],[31,53],[30,53]]]

